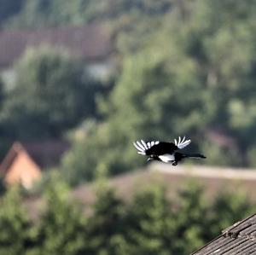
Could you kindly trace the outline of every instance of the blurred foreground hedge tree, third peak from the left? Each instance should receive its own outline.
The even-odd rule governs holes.
[[[112,188],[98,189],[93,215],[86,225],[88,254],[126,254],[125,249],[125,205]]]

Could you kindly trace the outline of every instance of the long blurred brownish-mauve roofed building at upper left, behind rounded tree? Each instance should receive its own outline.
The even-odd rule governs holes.
[[[106,76],[113,69],[111,33],[105,26],[63,26],[34,30],[0,31],[0,71],[12,79],[12,67],[27,48],[48,45],[67,49],[70,55],[86,62],[96,76]],[[91,69],[91,70],[90,70]]]

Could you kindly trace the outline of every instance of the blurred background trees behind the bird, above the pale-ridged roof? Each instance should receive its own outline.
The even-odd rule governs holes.
[[[14,90],[6,85],[2,93],[1,151],[15,139],[61,137],[77,127],[61,165],[73,184],[102,168],[116,174],[143,165],[131,143],[138,138],[186,135],[207,164],[255,166],[254,1],[22,3],[6,29],[107,22],[120,68],[110,95],[98,96],[102,87],[84,78],[80,63],[29,51],[15,64]]]

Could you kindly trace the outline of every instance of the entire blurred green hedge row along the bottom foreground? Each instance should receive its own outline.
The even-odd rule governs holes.
[[[217,195],[206,203],[201,187],[195,183],[186,185],[177,200],[171,202],[166,198],[166,188],[154,184],[134,194],[129,203],[104,186],[97,190],[90,210],[86,205],[84,214],[79,203],[70,200],[67,185],[55,178],[47,185],[46,207],[42,207],[36,221],[29,219],[34,212],[21,203],[19,189],[10,189],[0,206],[0,252],[189,254],[255,210],[242,192]]]

